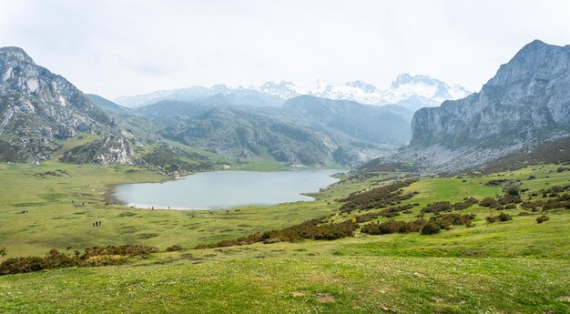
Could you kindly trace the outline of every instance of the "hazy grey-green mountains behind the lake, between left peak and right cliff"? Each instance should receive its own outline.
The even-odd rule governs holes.
[[[288,165],[355,166],[394,152],[411,135],[409,121],[389,108],[315,96],[279,108],[165,100],[132,110],[162,125],[160,137],[224,157]]]

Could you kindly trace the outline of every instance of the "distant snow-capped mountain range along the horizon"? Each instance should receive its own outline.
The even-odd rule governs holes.
[[[347,82],[333,86],[316,81],[310,86],[296,86],[289,81],[267,82],[261,86],[225,85],[212,87],[193,86],[189,88],[158,91],[139,96],[122,96],[117,104],[123,106],[145,106],[161,100],[197,100],[221,95],[230,99],[229,105],[280,106],[295,96],[310,95],[333,100],[351,100],[366,105],[396,104],[415,111],[422,106],[439,106],[443,100],[455,100],[473,92],[463,86],[449,85],[430,76],[401,74],[387,89],[379,89],[363,81]],[[229,97],[231,96],[231,97]]]

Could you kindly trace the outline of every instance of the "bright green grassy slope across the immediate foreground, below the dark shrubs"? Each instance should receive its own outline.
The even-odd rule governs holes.
[[[254,248],[255,249],[255,248]],[[527,258],[307,256],[56,269],[0,279],[5,312],[477,313],[568,310],[568,265]],[[222,253],[223,254],[223,253]],[[263,254],[262,251],[256,254]],[[210,254],[213,255],[213,254]],[[561,276],[562,274],[562,276]],[[7,281],[6,279],[9,279]],[[41,284],[38,284],[41,282]]]

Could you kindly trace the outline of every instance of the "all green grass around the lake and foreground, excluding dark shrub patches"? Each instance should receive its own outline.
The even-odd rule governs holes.
[[[422,178],[405,188],[419,194],[402,203],[419,206],[397,219],[415,219],[434,201],[501,194],[501,187],[485,186],[492,179],[520,179],[531,191],[570,184],[570,172],[557,173],[557,167]],[[38,175],[61,173],[57,169],[69,177]],[[529,180],[531,174],[536,178]],[[105,205],[108,184],[165,178],[148,171],[1,164],[0,178],[10,184],[0,188],[0,247],[6,247],[7,257],[41,254],[52,247],[125,243],[189,248],[325,215],[336,215],[332,221],[350,219],[366,211],[340,214],[335,199],[400,176],[343,175],[314,202],[208,215]],[[75,204],[85,201],[85,208],[73,208],[72,199]],[[20,214],[23,208],[29,213]],[[549,211],[550,219],[542,224],[535,220],[541,212],[504,212],[514,219],[489,224],[485,216],[500,211],[473,206],[457,212],[476,214],[473,228],[454,226],[432,236],[357,232],[334,241],[190,249],[131,258],[117,267],[3,276],[0,312],[569,313],[570,210]],[[94,220],[103,226],[92,228]]]

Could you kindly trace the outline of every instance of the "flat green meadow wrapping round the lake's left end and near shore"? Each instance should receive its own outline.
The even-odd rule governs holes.
[[[60,173],[61,177],[46,175]],[[0,248],[7,257],[45,253],[49,248],[138,243],[164,249],[173,244],[239,238],[283,228],[330,213],[324,202],[226,210],[142,210],[105,203],[110,184],[167,179],[134,167],[97,167],[46,163],[41,166],[0,164]],[[22,214],[27,210],[26,214]],[[93,228],[95,221],[102,226]],[[148,237],[152,234],[154,237]]]

